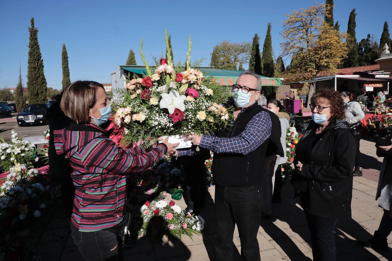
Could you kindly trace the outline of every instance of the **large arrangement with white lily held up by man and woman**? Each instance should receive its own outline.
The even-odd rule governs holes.
[[[165,135],[209,133],[232,120],[232,108],[221,105],[230,97],[229,91],[190,67],[191,37],[184,66],[174,65],[167,33],[165,40],[167,59],[161,59],[153,70],[143,56],[142,39],[140,55],[147,75],[128,76],[125,89],[112,100],[113,123],[123,127],[125,146]]]

